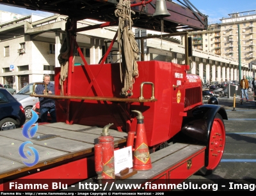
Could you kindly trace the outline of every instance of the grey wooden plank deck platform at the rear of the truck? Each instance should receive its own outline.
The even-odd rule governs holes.
[[[102,128],[95,126],[51,123],[38,126],[35,136],[29,140],[22,135],[22,128],[2,131],[0,132],[0,179],[76,156],[90,155],[101,132]],[[109,132],[114,137],[115,147],[125,145],[127,133],[111,129]],[[33,167],[24,165],[22,161],[29,161],[19,155],[20,144],[28,140],[33,142],[31,146],[39,153],[39,162]]]

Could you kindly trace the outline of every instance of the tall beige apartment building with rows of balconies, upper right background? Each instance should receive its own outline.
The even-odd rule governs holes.
[[[256,10],[228,14],[219,24],[210,24],[205,31],[191,31],[193,49],[199,49],[234,61],[256,64]],[[239,33],[238,33],[239,27]]]

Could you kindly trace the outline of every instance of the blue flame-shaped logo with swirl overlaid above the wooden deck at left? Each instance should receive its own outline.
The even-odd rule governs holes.
[[[22,161],[25,165],[27,165],[28,167],[33,167],[34,165],[36,165],[36,163],[38,163],[39,161],[39,154],[38,151],[35,149],[35,147],[33,147],[33,143],[30,141],[30,139],[33,138],[33,136],[35,135],[35,133],[37,132],[38,129],[38,124],[36,123],[37,119],[38,119],[38,115],[36,114],[36,112],[34,110],[31,110],[32,113],[32,117],[31,119],[24,124],[23,128],[22,128],[22,135],[24,137],[26,137],[27,139],[29,139],[26,142],[23,142],[20,147],[19,147],[19,154],[22,158],[24,158],[25,161]],[[34,123],[35,126],[32,126]],[[29,130],[30,128],[30,130]],[[29,150],[25,150],[26,153],[24,152],[24,149],[29,149]],[[27,156],[28,155],[28,156]],[[30,161],[28,162],[28,160],[31,160],[32,157],[35,157],[35,160],[33,160],[33,162],[31,163]]]

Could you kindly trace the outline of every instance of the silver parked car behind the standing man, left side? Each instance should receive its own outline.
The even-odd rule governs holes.
[[[38,97],[29,96],[29,94],[33,93],[33,83],[28,84],[24,88],[22,88],[17,94],[13,96],[22,104],[25,110],[26,119],[31,119],[31,109],[33,105],[39,102]],[[54,81],[51,81],[54,84]],[[36,87],[36,86],[35,86]]]

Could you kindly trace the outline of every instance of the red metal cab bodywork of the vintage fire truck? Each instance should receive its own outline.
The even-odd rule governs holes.
[[[97,80],[97,84],[99,84],[102,94],[108,97],[120,97],[122,84],[120,82],[119,64],[104,64],[102,67],[100,64],[89,66],[93,75],[97,75],[95,80]],[[188,84],[186,81],[186,72],[182,65],[162,61],[138,62],[138,70],[140,75],[135,80],[132,90],[132,98],[140,97],[141,82],[153,82],[157,102],[134,102],[130,103],[130,106],[129,104],[127,106],[125,103],[120,103],[120,105],[122,105],[132,117],[135,116],[132,114],[131,110],[139,110],[143,113],[143,116],[145,117],[144,122],[148,146],[154,146],[170,139],[180,131],[182,116],[179,114],[180,112],[184,112],[185,89]],[[60,69],[56,68],[55,73],[56,84],[58,84]],[[180,75],[183,74],[183,77],[181,78],[181,76],[176,73],[179,73]],[[176,86],[179,84],[179,82],[177,83],[178,80],[180,86],[174,88],[173,85]],[[101,96],[101,93],[93,86],[92,89],[88,91],[88,94],[84,94],[84,89],[90,85],[90,82],[90,78],[88,77],[84,66],[75,66],[74,72],[72,73],[71,94],[77,96]],[[200,85],[198,82],[194,83]],[[67,86],[65,84],[64,89],[66,88]],[[55,92],[56,94],[60,94],[59,87],[56,87]],[[177,102],[178,92],[180,93],[179,103]],[[143,97],[150,98],[151,96],[152,87],[148,85],[143,86]],[[65,103],[66,101],[58,100],[58,102]],[[113,117],[110,115],[112,112],[116,122],[122,127],[122,130],[125,131],[127,127],[128,130],[136,130],[136,119],[131,121],[131,125],[130,123],[127,123],[127,121],[130,120],[129,117],[127,117],[124,111],[119,111],[116,104],[107,102],[111,109],[110,111],[109,107],[106,107],[102,101],[84,100],[84,103],[81,105],[80,102],[81,100],[71,100],[70,102],[71,117],[72,114],[75,114],[77,110],[79,110],[74,119],[74,123],[88,126],[105,126],[106,124],[113,123]],[[61,105],[63,106],[64,111],[67,110],[64,104]],[[58,107],[58,104],[56,105],[56,111],[58,114],[58,121],[65,122],[65,112]]]

